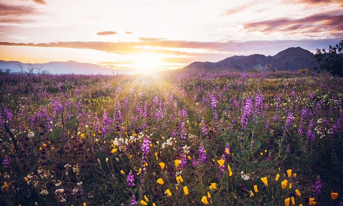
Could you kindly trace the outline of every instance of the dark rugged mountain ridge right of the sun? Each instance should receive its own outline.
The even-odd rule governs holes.
[[[264,56],[262,54],[252,54],[249,56],[233,56],[228,57],[218,62],[193,62],[184,68],[179,68],[176,71],[206,71],[206,72],[222,72],[222,71],[249,71],[257,70],[289,70],[296,71],[298,69],[313,69],[318,66],[314,62],[315,55],[310,51],[300,48],[291,47],[280,51],[275,56]]]

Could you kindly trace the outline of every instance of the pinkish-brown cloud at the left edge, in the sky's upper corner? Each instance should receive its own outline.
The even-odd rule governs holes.
[[[12,5],[0,2],[0,23],[26,23],[33,20],[24,18],[28,15],[37,15],[39,12],[31,5]]]

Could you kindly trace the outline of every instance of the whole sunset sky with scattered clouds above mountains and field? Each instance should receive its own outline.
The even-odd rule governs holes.
[[[0,60],[151,73],[343,39],[342,0],[0,0]]]

